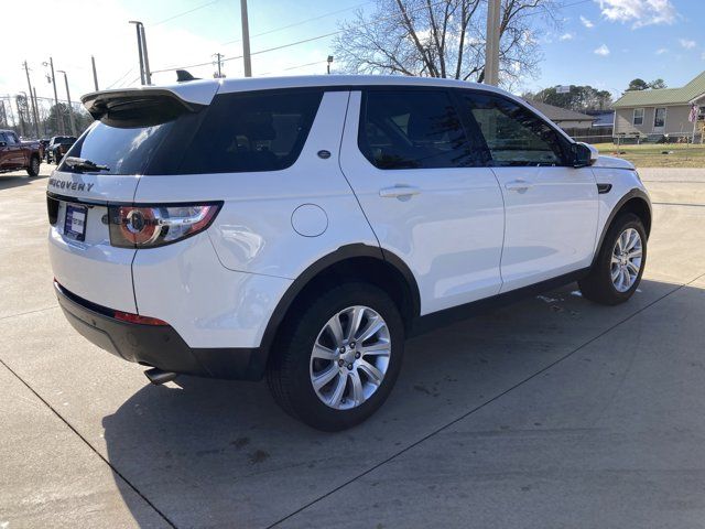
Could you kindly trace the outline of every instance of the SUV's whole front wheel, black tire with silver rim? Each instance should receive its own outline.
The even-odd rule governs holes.
[[[590,273],[578,281],[583,295],[605,305],[623,303],[633,295],[647,262],[647,233],[631,213],[609,227]]]

